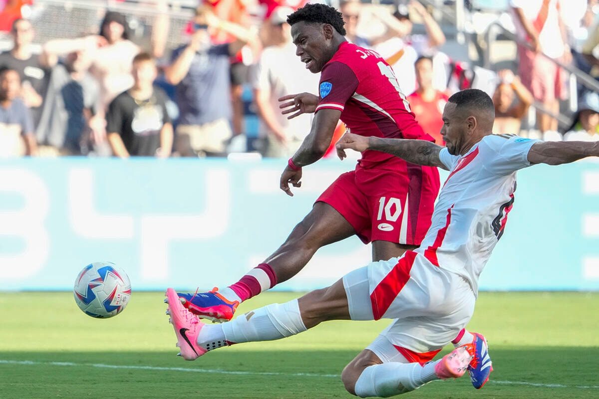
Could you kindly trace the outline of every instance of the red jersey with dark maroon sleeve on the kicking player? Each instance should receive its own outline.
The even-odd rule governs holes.
[[[434,141],[416,122],[391,66],[376,52],[350,42],[341,43],[320,72],[316,112],[324,108],[339,109],[341,121],[357,135]],[[383,162],[406,168],[398,157],[368,150],[358,166]]]

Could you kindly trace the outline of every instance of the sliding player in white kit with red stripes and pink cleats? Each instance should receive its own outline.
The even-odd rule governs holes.
[[[274,340],[332,319],[395,319],[343,370],[341,379],[359,397],[389,397],[434,379],[459,377],[474,357],[473,345],[434,356],[465,327],[474,312],[478,279],[504,232],[516,190],[516,170],[536,163],[559,165],[599,156],[599,142],[542,142],[492,135],[494,105],[485,92],[456,93],[443,112],[446,148],[420,140],[347,133],[337,143],[382,151],[419,165],[450,170],[422,245],[400,258],[373,262],[331,287],[298,300],[271,304],[220,325],[205,325],[167,290],[177,346],[186,360],[233,343]],[[477,354],[485,361],[485,354]],[[490,364],[489,364],[490,366]]]

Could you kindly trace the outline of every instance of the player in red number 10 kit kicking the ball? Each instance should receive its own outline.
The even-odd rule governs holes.
[[[346,40],[343,18],[335,8],[308,4],[290,14],[287,22],[297,56],[310,72],[320,72],[320,83],[318,97],[301,93],[282,98],[291,100],[281,105],[291,117],[315,112],[310,133],[283,170],[283,191],[292,196],[290,185],[300,187],[302,167],[325,154],[340,119],[350,132],[361,136],[434,141],[416,122],[391,66],[374,51]],[[420,245],[431,224],[439,187],[435,167],[364,151],[355,170],[340,175],[322,193],[264,263],[224,290],[179,293],[181,303],[201,318],[228,321],[241,301],[292,278],[317,249],[354,234],[364,243],[373,243],[374,261],[398,257]],[[486,348],[483,338],[462,330],[455,344],[464,343]],[[410,362],[428,360],[427,354],[405,348],[400,353]]]

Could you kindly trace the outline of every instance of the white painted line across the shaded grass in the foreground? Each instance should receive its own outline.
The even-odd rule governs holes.
[[[214,373],[214,374],[235,374],[249,376],[287,376],[287,377],[334,377],[340,378],[339,374],[315,374],[315,373],[269,373],[259,371],[226,371],[226,370],[208,370],[205,368],[185,368],[185,367],[156,367],[156,366],[123,366],[119,364],[101,364],[101,363],[72,363],[66,361],[31,361],[31,360],[2,360],[0,364],[19,364],[23,366],[84,366],[98,368],[119,368],[127,370],[152,370],[152,371],[185,371],[187,373]],[[525,385],[539,386],[543,388],[578,388],[578,389],[599,389],[599,385],[562,385],[562,384],[543,384],[524,381],[498,381],[489,380],[489,383],[502,385]]]

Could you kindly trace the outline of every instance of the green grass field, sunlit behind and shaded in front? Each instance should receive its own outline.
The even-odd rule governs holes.
[[[239,310],[297,296],[265,293]],[[134,293],[98,320],[71,293],[0,293],[0,398],[351,398],[341,370],[388,324],[329,322],[186,362],[162,300]],[[468,327],[489,340],[489,383],[477,391],[465,376],[404,397],[599,398],[599,293],[481,293]]]

